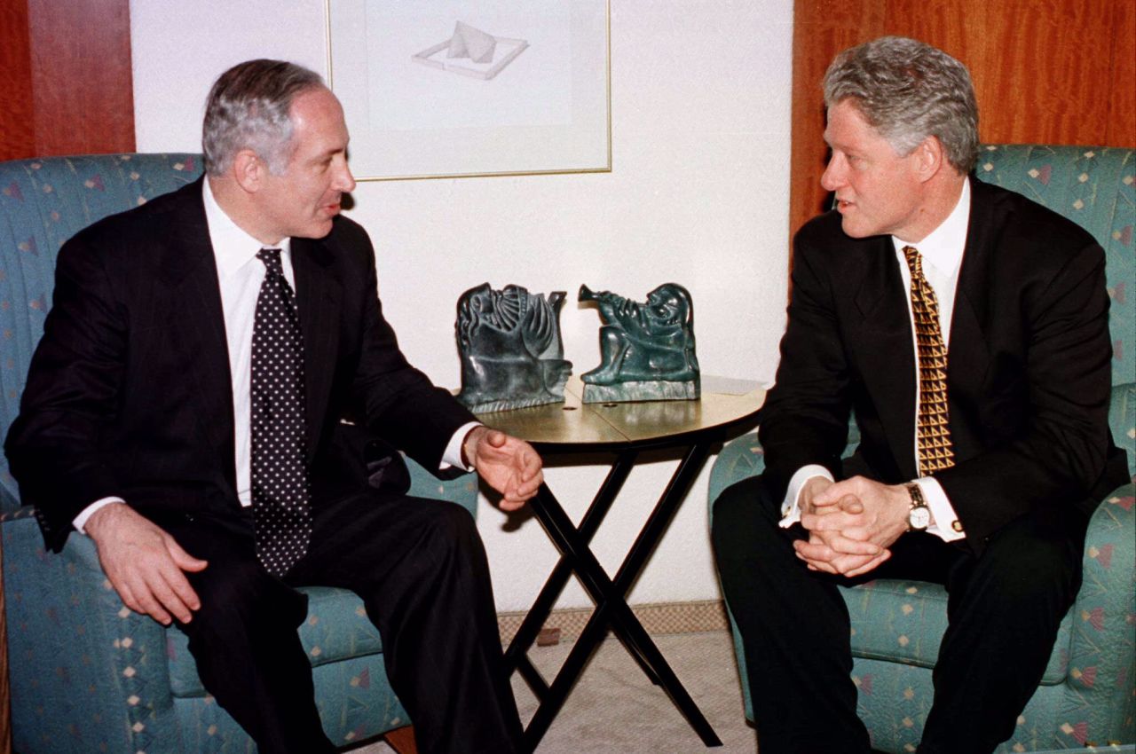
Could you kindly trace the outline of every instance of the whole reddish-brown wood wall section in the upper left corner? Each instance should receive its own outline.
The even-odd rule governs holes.
[[[5,0],[0,160],[134,151],[130,0]]]

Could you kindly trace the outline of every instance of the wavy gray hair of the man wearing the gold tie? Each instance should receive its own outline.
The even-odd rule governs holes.
[[[844,50],[825,73],[825,106],[853,106],[900,154],[937,136],[966,175],[978,161],[978,104],[967,67],[929,44],[882,36]]]

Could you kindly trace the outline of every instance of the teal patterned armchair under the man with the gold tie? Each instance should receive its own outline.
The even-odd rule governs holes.
[[[1136,474],[1136,152],[1130,149],[987,145],[978,178],[1022,193],[1088,229],[1106,253],[1113,340],[1109,424]],[[850,428],[849,453],[859,442]],[[710,501],[765,468],[757,435],[729,443],[713,464]],[[1084,584],[1061,623],[1037,693],[997,752],[1081,749],[1136,743],[1136,510],[1134,486],[1102,501],[1085,545]],[[712,512],[712,511],[711,511]],[[946,592],[878,579],[843,589],[852,619],[858,712],[872,746],[913,752],[932,702],[946,627]],[[745,656],[735,629],[738,667]],[[745,673],[746,717],[753,719]],[[959,721],[966,724],[966,721]],[[1095,751],[1095,749],[1094,749]]]

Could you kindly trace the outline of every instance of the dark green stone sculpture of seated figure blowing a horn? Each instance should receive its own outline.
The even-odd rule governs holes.
[[[694,354],[694,304],[677,283],[663,283],[645,303],[579,288],[599,304],[599,367],[580,376],[584,402],[693,400],[701,394]]]

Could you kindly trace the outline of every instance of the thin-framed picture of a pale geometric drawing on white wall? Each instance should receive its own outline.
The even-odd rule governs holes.
[[[608,0],[326,0],[359,181],[611,170]]]

